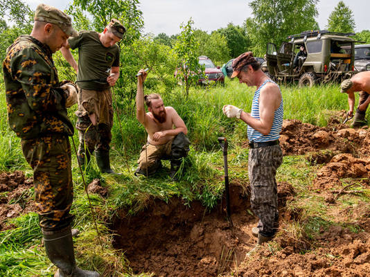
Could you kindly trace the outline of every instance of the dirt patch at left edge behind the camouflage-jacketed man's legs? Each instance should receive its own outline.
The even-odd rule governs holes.
[[[20,213],[34,211],[31,193],[33,179],[26,179],[24,172],[3,172],[0,174],[0,231],[12,228],[4,221]]]

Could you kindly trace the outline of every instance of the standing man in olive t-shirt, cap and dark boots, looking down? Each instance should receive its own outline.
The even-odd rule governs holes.
[[[109,162],[113,126],[110,88],[119,77],[120,50],[116,42],[122,39],[124,33],[122,24],[112,19],[103,33],[82,31],[77,37],[68,39],[67,45],[60,49],[78,73],[78,160],[82,165],[89,163],[90,154],[96,149],[96,163],[100,171],[113,174],[115,172]],[[78,64],[70,48],[78,48]]]

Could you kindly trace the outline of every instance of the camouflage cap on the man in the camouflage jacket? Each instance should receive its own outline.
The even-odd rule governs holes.
[[[70,37],[76,37],[78,35],[76,30],[72,28],[71,17],[61,10],[46,4],[39,4],[39,6],[37,6],[35,11],[35,21],[44,21],[55,24]]]

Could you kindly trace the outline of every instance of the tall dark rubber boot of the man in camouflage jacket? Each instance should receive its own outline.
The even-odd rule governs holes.
[[[76,266],[71,227],[60,231],[44,231],[44,244],[49,260],[58,267],[54,277],[99,277],[96,271],[82,270]]]

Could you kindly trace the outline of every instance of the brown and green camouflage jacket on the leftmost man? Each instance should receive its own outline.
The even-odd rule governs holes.
[[[65,107],[67,93],[60,89],[49,46],[21,35],[6,51],[3,73],[9,124],[17,136],[73,135]]]

